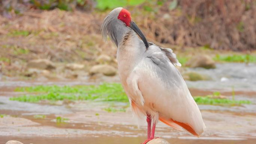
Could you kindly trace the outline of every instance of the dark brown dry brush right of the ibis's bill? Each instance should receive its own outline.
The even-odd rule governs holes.
[[[255,0],[180,0],[176,10],[168,9],[170,3],[144,22],[152,39],[219,50],[256,49]]]

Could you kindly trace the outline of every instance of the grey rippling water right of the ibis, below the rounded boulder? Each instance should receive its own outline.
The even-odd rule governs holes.
[[[189,88],[225,91],[256,91],[256,64],[224,63],[217,64],[215,69],[188,68],[206,76],[209,81],[187,81]]]

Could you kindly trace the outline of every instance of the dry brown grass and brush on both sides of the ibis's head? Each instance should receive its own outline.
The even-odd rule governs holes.
[[[149,41],[176,53],[186,48],[186,57],[201,52],[188,47],[205,46],[211,54],[216,53],[211,48],[255,49],[255,0],[180,0],[174,10],[169,4],[156,6],[156,12],[144,10],[144,5],[128,7]],[[12,13],[10,19],[0,15],[0,71],[10,76],[24,72],[26,62],[38,58],[85,65],[94,65],[101,53],[115,58],[116,47],[103,42],[100,34],[109,11],[28,10]]]

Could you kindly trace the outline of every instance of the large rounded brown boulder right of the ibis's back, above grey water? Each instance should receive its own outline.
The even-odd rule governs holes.
[[[196,55],[186,63],[186,66],[193,68],[202,67],[207,69],[216,68],[215,62],[208,55]]]

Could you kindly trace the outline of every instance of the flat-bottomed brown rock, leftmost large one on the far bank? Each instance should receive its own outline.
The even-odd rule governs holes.
[[[48,59],[33,59],[28,62],[27,67],[42,70],[52,70],[56,68],[54,63]]]

